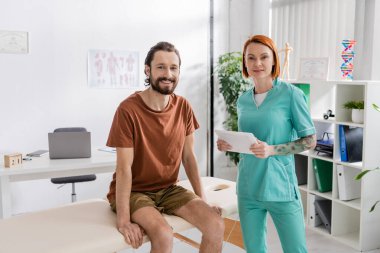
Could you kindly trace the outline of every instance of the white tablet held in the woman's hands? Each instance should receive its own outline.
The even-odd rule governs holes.
[[[253,154],[249,148],[257,141],[256,137],[252,133],[226,130],[215,130],[215,133],[218,135],[219,139],[224,140],[232,146],[229,150],[230,152]]]

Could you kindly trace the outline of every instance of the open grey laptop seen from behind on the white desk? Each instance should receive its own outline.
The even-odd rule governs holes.
[[[50,159],[91,157],[91,133],[86,128],[57,128],[48,139]]]

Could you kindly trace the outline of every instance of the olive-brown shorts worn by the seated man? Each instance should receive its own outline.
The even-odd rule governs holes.
[[[146,206],[151,206],[161,213],[172,215],[175,210],[196,198],[198,196],[193,192],[181,186],[172,185],[152,192],[131,192],[129,208],[131,215],[136,210]],[[116,202],[111,203],[111,208],[116,212]]]

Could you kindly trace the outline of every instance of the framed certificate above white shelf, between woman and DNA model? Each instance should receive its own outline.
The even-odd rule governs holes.
[[[298,80],[327,80],[329,58],[300,58]]]

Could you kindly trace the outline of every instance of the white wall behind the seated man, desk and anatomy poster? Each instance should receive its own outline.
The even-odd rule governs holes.
[[[90,89],[87,52],[140,52],[140,83],[149,48],[174,43],[183,65],[177,94],[201,124],[195,150],[207,171],[208,15],[204,0],[0,0],[0,30],[29,33],[28,54],[0,54],[0,154],[47,148],[47,133],[83,126],[104,146],[117,105],[133,90]],[[182,173],[183,174],[183,173]],[[78,199],[104,197],[110,174],[78,185]],[[71,187],[49,180],[12,183],[14,213],[70,201]]]

